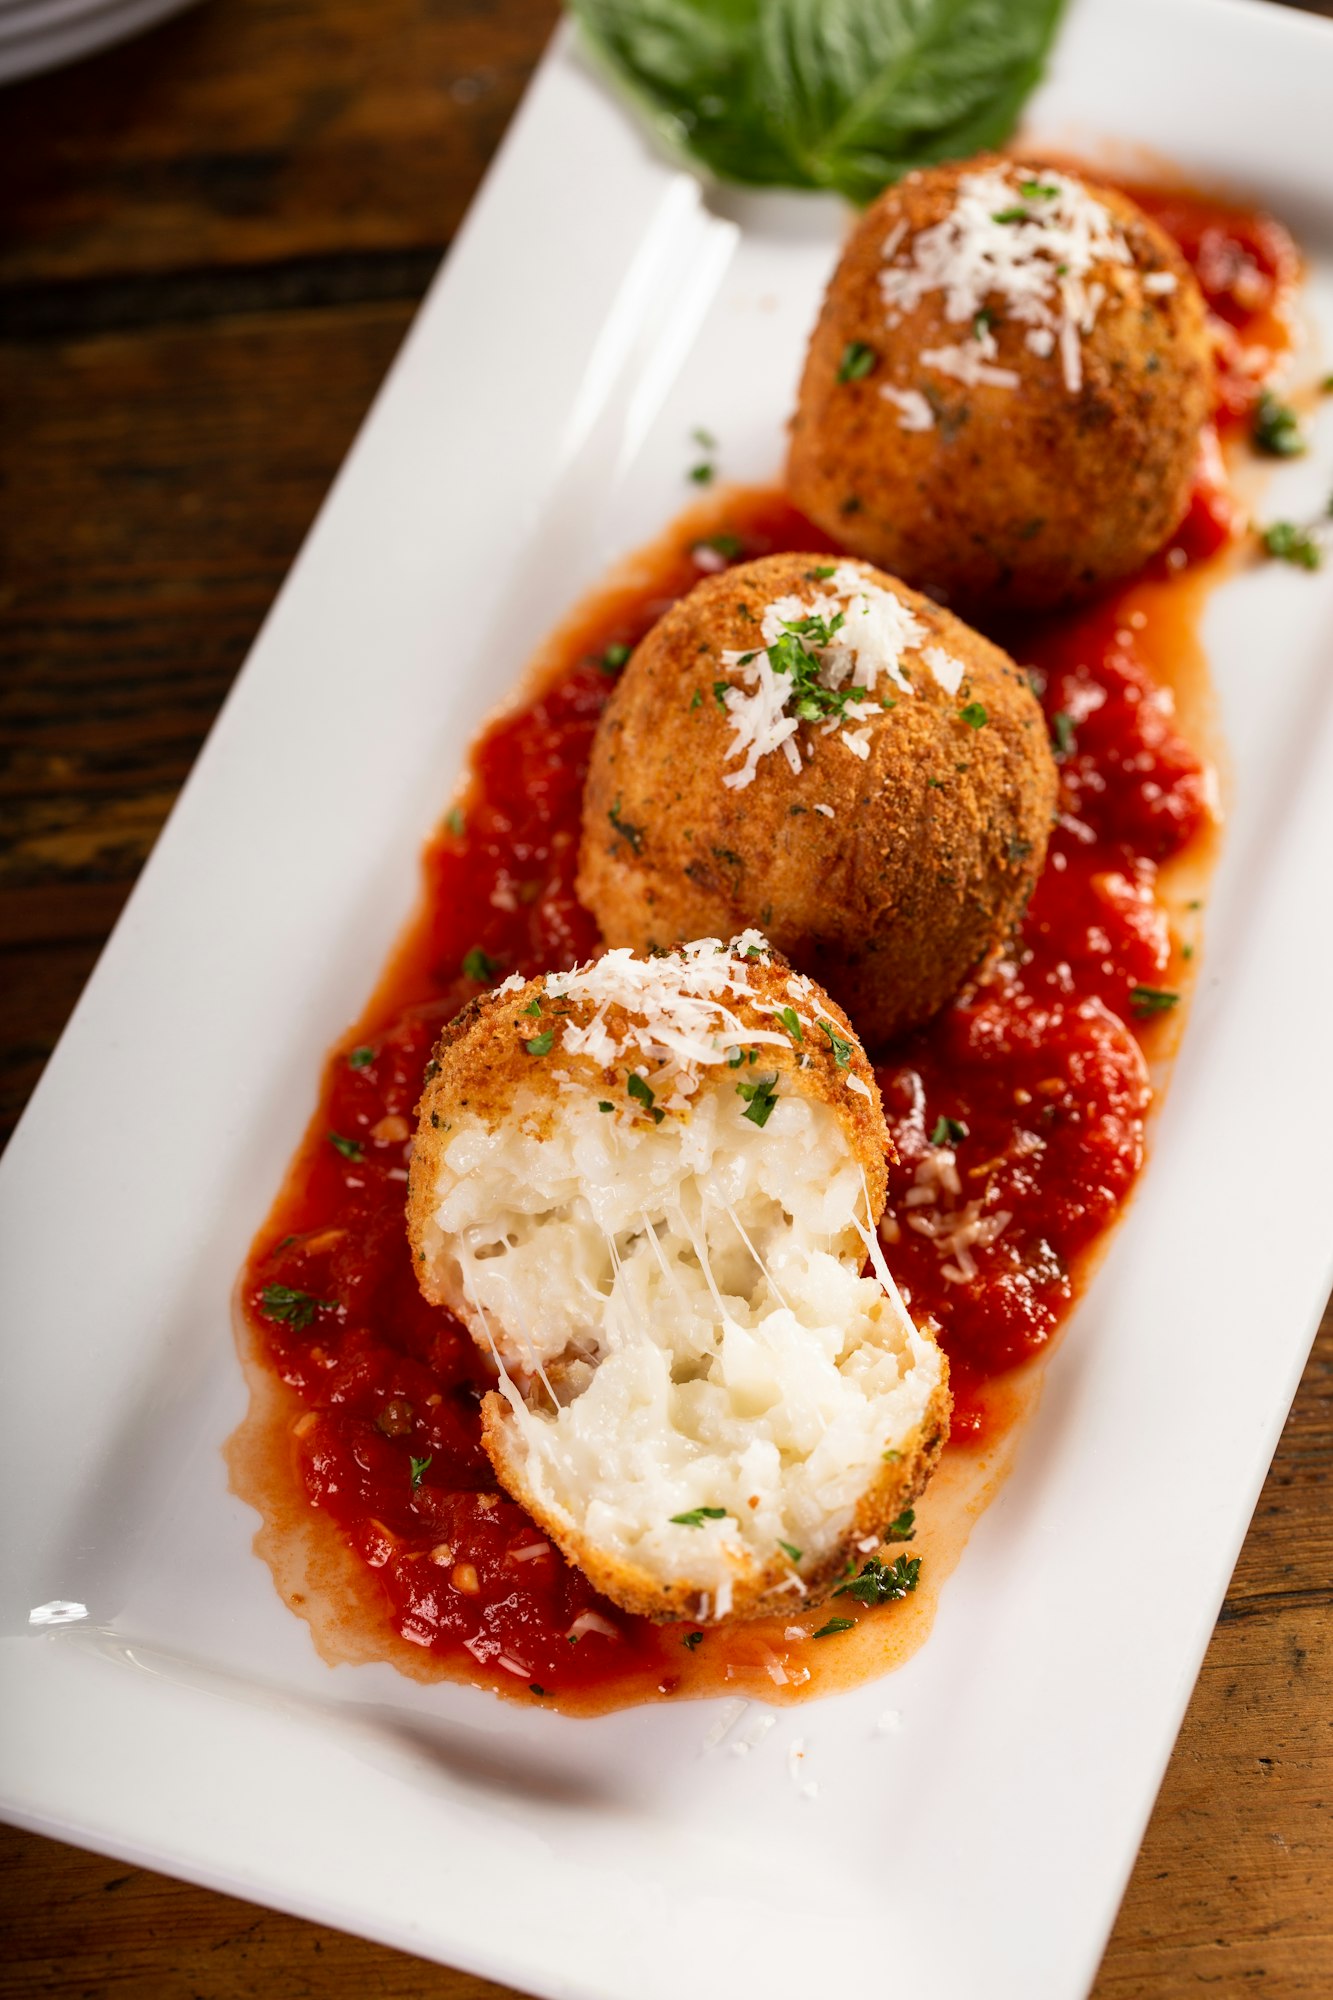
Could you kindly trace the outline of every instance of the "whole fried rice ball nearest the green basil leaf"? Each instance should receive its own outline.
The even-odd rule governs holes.
[[[1043,608],[1143,568],[1211,412],[1203,294],[1129,196],[981,156],[857,224],[807,354],[791,498],[961,608]]]

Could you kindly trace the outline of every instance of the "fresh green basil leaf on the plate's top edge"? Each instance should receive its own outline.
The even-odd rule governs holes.
[[[869,202],[999,146],[1063,0],[568,0],[675,152],[719,180]]]

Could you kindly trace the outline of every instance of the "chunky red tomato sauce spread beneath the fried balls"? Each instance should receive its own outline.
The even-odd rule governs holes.
[[[1235,426],[1289,340],[1295,250],[1263,216],[1133,192],[1199,274],[1217,328],[1217,418]],[[1155,564],[1165,588],[1231,532],[1209,448]],[[496,1486],[478,1426],[490,1368],[416,1288],[404,1188],[444,1022],[508,972],[570,966],[598,946],[574,898],[582,780],[628,650],[705,568],[829,546],[779,494],[729,494],[640,556],[632,582],[588,600],[536,690],[474,746],[460,802],[426,850],[418,914],[328,1058],[318,1114],[240,1282],[258,1386],[232,1466],[266,1514],[260,1544],[280,1584],[284,1536],[308,1546],[314,1534],[322,1548],[286,1594],[326,1650],[332,1606],[312,1596],[340,1594],[360,1632],[332,1654],[382,1654],[422,1678],[582,1710],[717,1692],[739,1672],[727,1662],[755,1658],[785,1692],[821,1684],[785,1672],[781,1626],[701,1638],[616,1610]],[[1189,586],[1181,574],[1177,588]],[[1031,668],[1061,766],[1049,860],[999,970],[879,1052],[897,1148],[883,1238],[915,1316],[935,1320],[949,1354],[947,1460],[1005,1424],[1005,1380],[1051,1342],[1135,1182],[1147,1056],[1189,972],[1159,870],[1205,828],[1207,780],[1149,664],[1153,614],[1135,604],[1129,586],[997,634]],[[845,1608],[865,1622],[907,1606]]]

